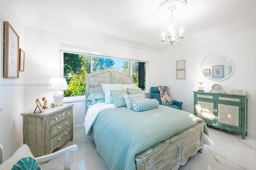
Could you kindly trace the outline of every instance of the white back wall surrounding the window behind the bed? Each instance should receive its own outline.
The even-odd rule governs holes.
[[[116,43],[112,40],[99,39],[76,33],[64,33],[40,29],[37,27],[25,27],[26,61],[25,83],[48,83],[50,77],[60,76],[60,47],[61,49],[77,49],[79,52],[98,52],[101,55],[112,57],[124,57],[141,61],[149,61],[149,84],[157,82],[158,59],[157,53],[142,50],[132,45]],[[156,71],[156,72],[155,72]],[[25,87],[25,110],[33,110],[36,98],[46,97],[48,104],[54,103],[52,94],[44,86]],[[74,126],[83,128],[85,116],[85,101],[73,102]],[[74,129],[75,130],[75,129]]]

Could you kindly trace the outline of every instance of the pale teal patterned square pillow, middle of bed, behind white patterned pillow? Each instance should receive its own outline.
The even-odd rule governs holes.
[[[128,94],[126,90],[110,90],[110,94],[116,108],[126,106],[123,95]]]

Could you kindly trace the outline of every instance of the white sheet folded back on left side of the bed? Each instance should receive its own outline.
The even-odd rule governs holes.
[[[98,113],[104,109],[108,108],[115,108],[113,103],[105,104],[104,102],[97,103],[92,105],[86,112],[85,121],[84,121],[84,128],[86,135],[90,131],[94,121],[97,118]]]

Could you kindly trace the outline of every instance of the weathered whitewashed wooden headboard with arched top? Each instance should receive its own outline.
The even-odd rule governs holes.
[[[92,72],[85,76],[85,101],[87,104],[87,98],[90,94],[95,92],[103,92],[101,83],[104,84],[132,84],[133,76],[128,73],[124,73],[117,68],[106,68],[103,71]],[[86,111],[87,111],[87,105]]]

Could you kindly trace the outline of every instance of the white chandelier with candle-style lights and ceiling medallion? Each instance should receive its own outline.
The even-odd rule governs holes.
[[[186,0],[166,0],[159,6],[159,11],[164,14],[170,14],[171,12],[171,19],[172,19],[172,13],[177,8],[184,8],[187,5]],[[162,42],[166,45],[170,43],[171,45],[174,45],[175,43],[180,43],[182,39],[184,38],[182,36],[182,30],[180,30],[180,36],[175,37],[175,31],[174,31],[174,23],[171,20],[171,25],[169,28],[169,35],[167,36],[167,39],[165,39],[165,34],[163,33],[163,40]]]

